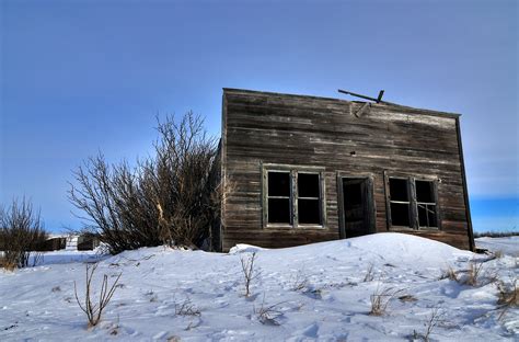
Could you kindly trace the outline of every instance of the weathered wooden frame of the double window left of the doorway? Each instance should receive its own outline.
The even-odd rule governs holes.
[[[263,228],[278,229],[323,229],[326,227],[326,198],[324,183],[324,168],[310,166],[293,164],[274,164],[262,163],[262,221]],[[268,172],[289,172],[290,173],[290,224],[268,223]],[[300,224],[299,223],[299,192],[298,192],[298,174],[318,174],[319,175],[319,193],[318,198],[320,209],[321,224]],[[301,197],[305,200],[307,197]],[[309,197],[310,198],[310,197]],[[312,197],[313,198],[313,197]],[[310,200],[312,200],[310,198]],[[315,198],[313,198],[315,200]]]

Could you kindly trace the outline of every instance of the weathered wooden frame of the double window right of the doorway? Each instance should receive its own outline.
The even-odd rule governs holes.
[[[390,194],[390,179],[401,179],[406,180],[407,182],[407,193],[410,200],[410,227],[407,226],[396,226],[392,223],[391,215],[391,194]],[[436,224],[437,227],[420,226],[418,219],[418,201],[416,198],[416,181],[425,181],[432,183],[432,196],[436,205]],[[440,216],[440,206],[438,197],[438,184],[440,183],[438,176],[436,175],[408,175],[399,172],[388,172],[384,171],[384,190],[385,190],[385,213],[387,213],[387,225],[389,230],[425,230],[434,231],[441,230],[441,216]],[[395,203],[402,203],[401,201],[395,201]],[[422,202],[419,202],[422,203]]]

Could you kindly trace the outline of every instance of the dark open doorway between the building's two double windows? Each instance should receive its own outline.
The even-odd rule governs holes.
[[[343,231],[346,238],[374,232],[372,185],[369,178],[343,178]]]

